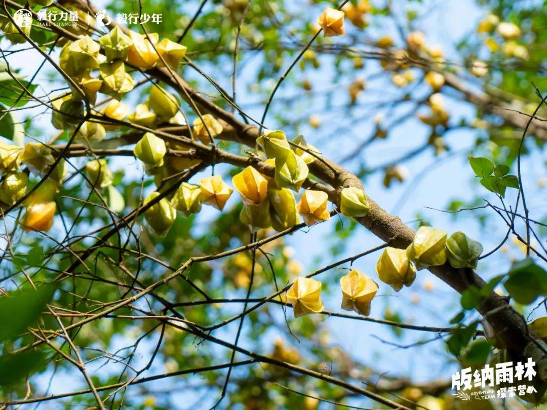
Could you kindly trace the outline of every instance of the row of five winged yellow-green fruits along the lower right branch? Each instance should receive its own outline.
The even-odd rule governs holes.
[[[414,282],[416,269],[444,265],[447,260],[455,268],[474,269],[481,253],[482,245],[463,232],[455,232],[447,238],[446,232],[440,229],[422,226],[408,248],[383,250],[376,263],[376,273],[383,283],[398,292]],[[340,279],[340,286],[342,309],[365,316],[370,314],[371,302],[378,290],[373,279],[353,269]],[[319,280],[296,278],[287,291],[295,317],[323,311],[321,288]]]

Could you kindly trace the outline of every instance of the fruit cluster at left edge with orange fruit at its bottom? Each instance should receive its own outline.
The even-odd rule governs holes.
[[[49,172],[48,179],[24,201],[26,213],[22,225],[26,231],[46,231],[53,225],[56,210],[53,196],[67,174],[65,160],[61,159],[55,168],[50,170],[54,163],[51,150],[44,144],[29,142],[25,147],[19,147],[0,142],[0,173],[3,174],[0,184],[2,207],[15,204],[27,192],[28,173],[19,171],[21,165],[25,165],[28,171],[36,175]]]

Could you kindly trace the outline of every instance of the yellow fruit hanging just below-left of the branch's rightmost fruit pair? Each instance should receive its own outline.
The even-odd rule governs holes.
[[[376,263],[376,273],[383,283],[388,284],[395,292],[404,286],[410,286],[416,279],[416,270],[406,257],[406,250],[386,248]]]

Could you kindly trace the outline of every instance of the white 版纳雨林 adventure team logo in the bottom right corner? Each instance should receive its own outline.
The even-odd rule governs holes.
[[[525,363],[519,361],[516,365],[508,361],[497,363],[494,367],[487,364],[475,371],[471,367],[463,368],[452,374],[452,390],[456,390],[452,395],[460,400],[488,400],[537,393],[532,384],[526,383],[532,382],[537,374],[534,366],[536,362],[528,358]],[[499,387],[501,384],[514,385]]]

